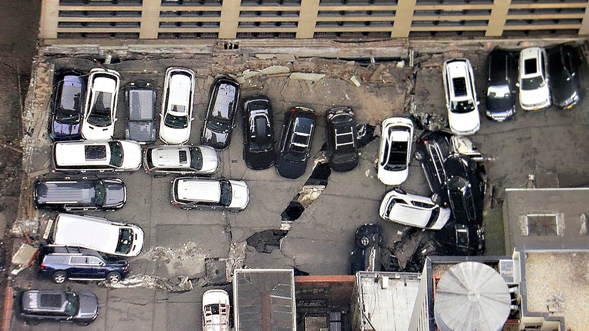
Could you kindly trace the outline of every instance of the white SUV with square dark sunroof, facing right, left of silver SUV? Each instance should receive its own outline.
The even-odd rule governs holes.
[[[54,171],[104,173],[141,167],[141,145],[131,140],[62,141],[53,144],[52,153]]]

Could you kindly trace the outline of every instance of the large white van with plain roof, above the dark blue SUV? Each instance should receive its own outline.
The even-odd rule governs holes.
[[[137,256],[143,248],[143,230],[94,216],[58,214],[49,240],[58,246],[77,246],[117,256]]]

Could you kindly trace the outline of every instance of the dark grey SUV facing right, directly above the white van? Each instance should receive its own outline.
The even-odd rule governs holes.
[[[127,189],[118,178],[39,180],[35,183],[37,208],[55,211],[114,211],[124,206]]]

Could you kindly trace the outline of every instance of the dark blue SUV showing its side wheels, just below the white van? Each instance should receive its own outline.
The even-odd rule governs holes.
[[[129,263],[114,260],[94,250],[46,246],[39,256],[39,274],[61,284],[70,280],[108,280],[116,283],[129,272]]]

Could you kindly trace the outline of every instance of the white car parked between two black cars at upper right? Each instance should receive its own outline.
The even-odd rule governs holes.
[[[546,51],[528,47],[519,52],[519,105],[523,110],[550,107]]]

